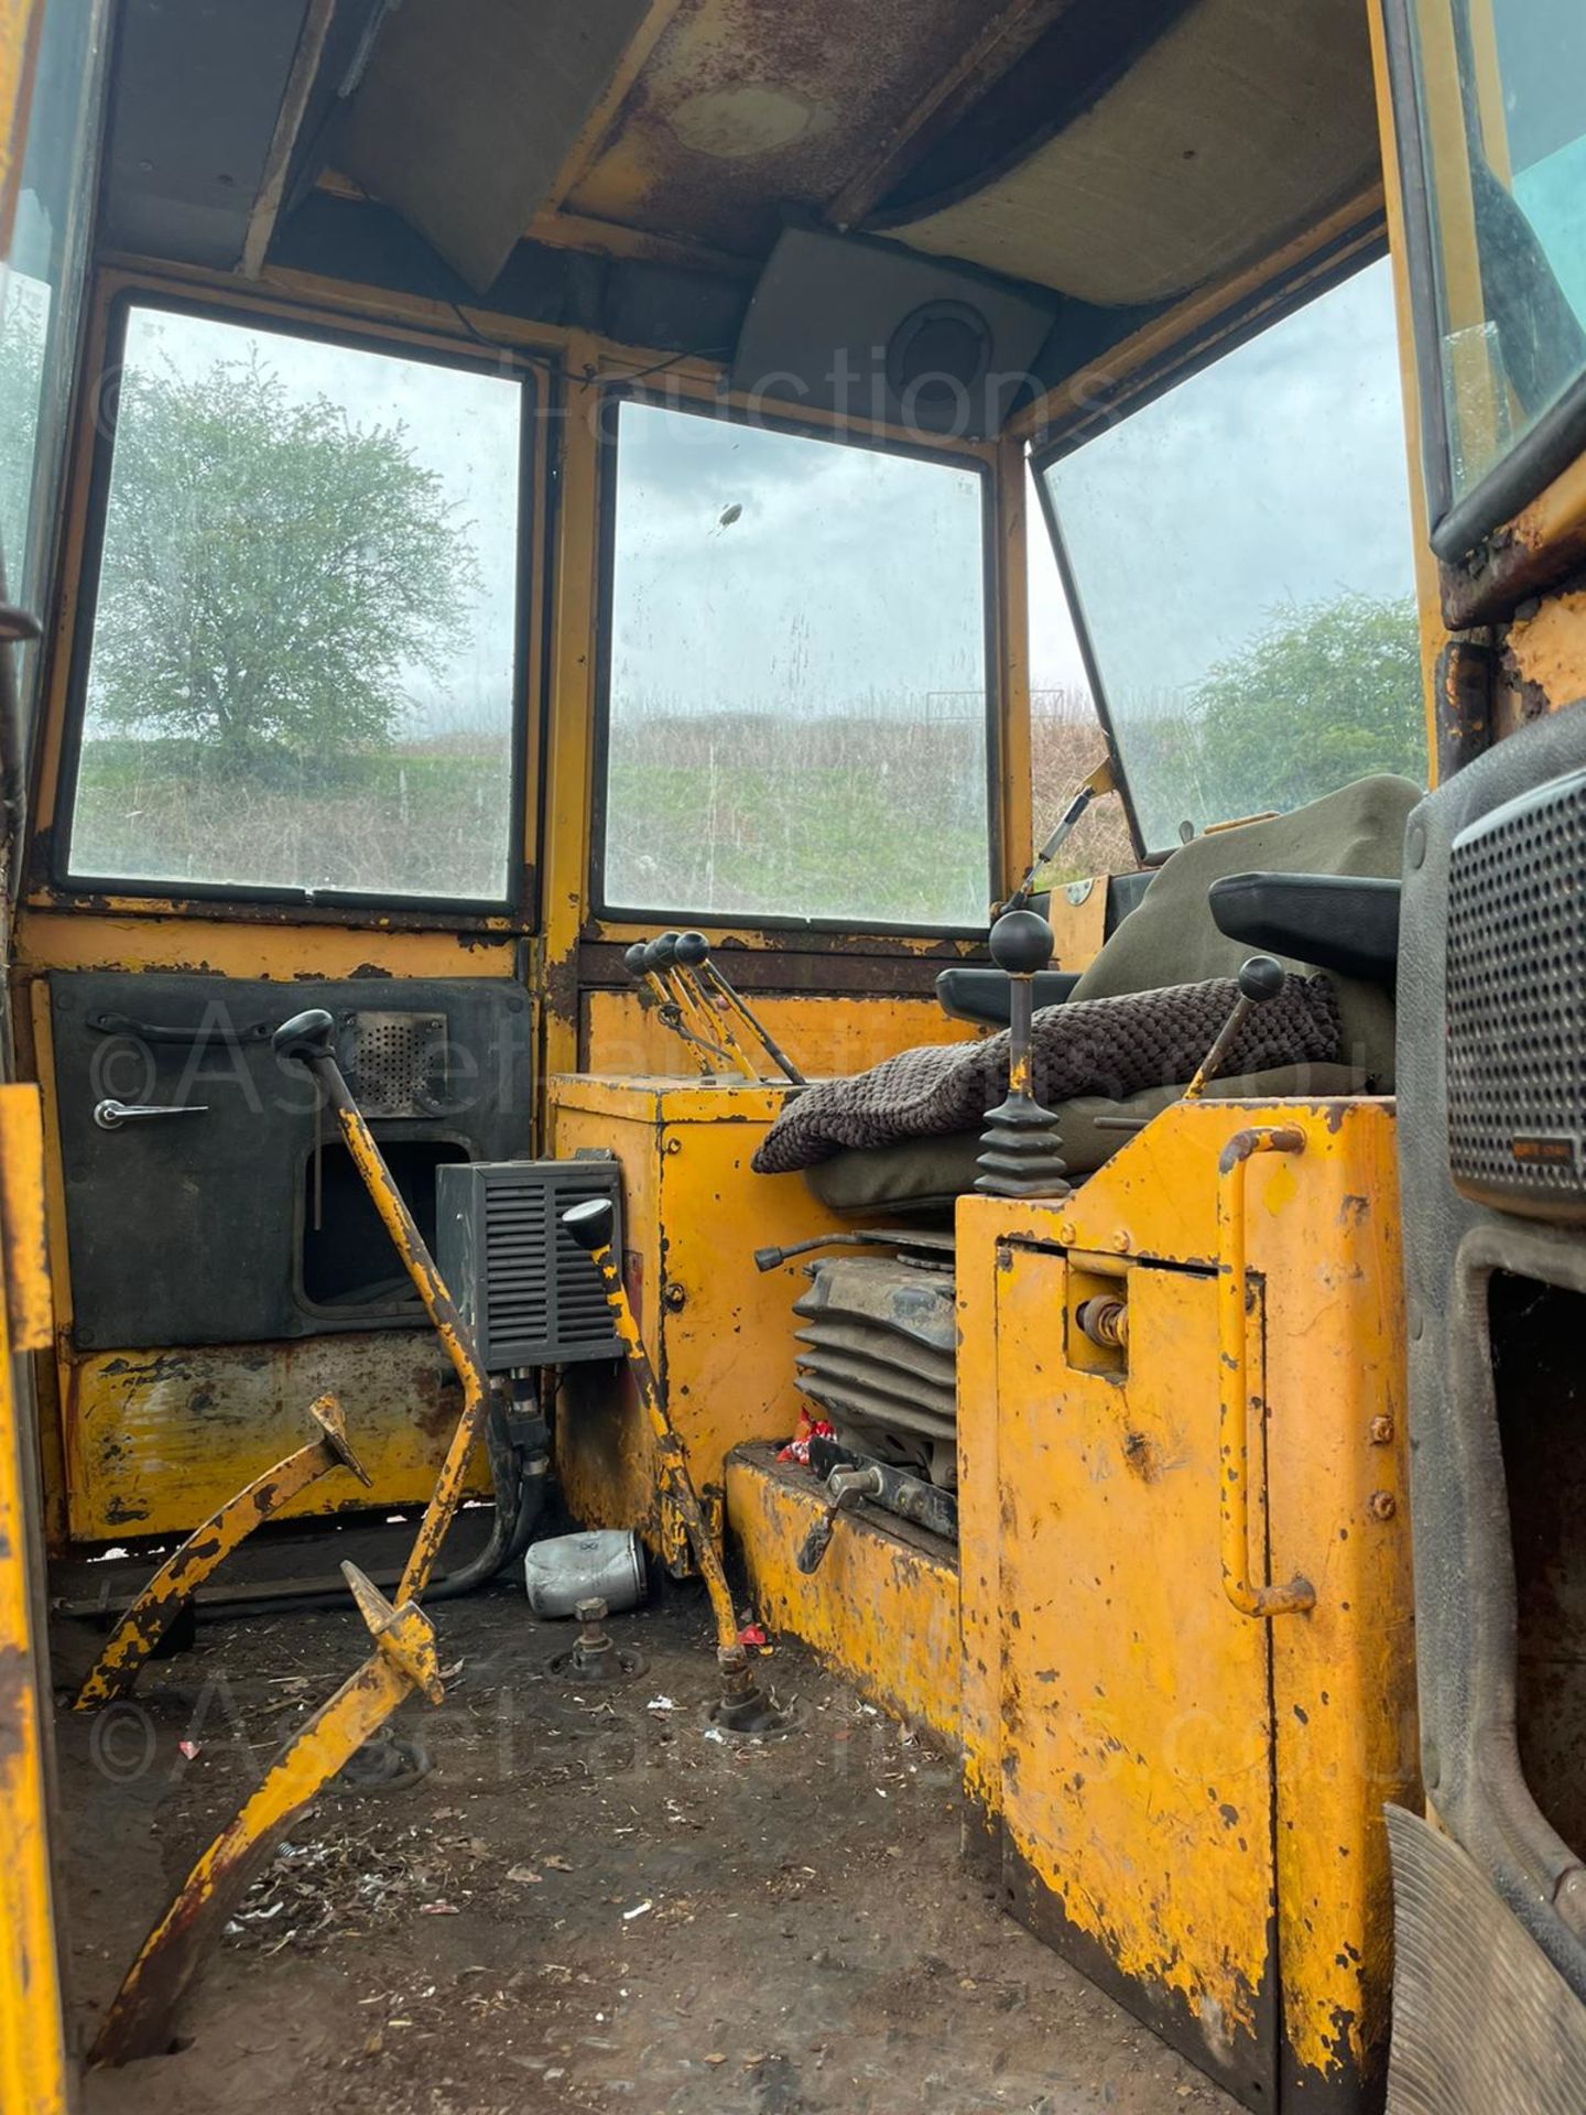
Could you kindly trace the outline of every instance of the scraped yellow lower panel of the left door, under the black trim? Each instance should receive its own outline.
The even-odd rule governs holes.
[[[61,1364],[68,1523],[76,1540],[186,1533],[302,1445],[309,1404],[332,1394],[370,1474],[326,1478],[283,1519],[421,1506],[436,1487],[461,1394],[429,1330],[298,1343],[97,1351]],[[488,1491],[482,1459],[469,1491]]]

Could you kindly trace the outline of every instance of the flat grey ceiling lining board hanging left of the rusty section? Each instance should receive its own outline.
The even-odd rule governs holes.
[[[647,11],[649,0],[406,0],[330,159],[484,292]]]

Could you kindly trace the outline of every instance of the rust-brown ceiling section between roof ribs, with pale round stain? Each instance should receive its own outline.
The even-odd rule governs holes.
[[[763,256],[952,72],[985,0],[683,0],[569,212]]]

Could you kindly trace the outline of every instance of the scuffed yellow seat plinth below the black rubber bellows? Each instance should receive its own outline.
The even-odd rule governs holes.
[[[727,1457],[727,1525],[766,1622],[801,1637],[863,1696],[956,1751],[958,1567],[947,1550],[846,1512],[820,1569],[806,1578],[793,1557],[823,1510],[810,1470],[778,1466],[763,1447]]]

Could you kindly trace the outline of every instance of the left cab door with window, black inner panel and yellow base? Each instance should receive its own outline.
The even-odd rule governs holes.
[[[372,1493],[461,1406],[271,1032],[328,1007],[421,1229],[533,1144],[543,376],[102,286],[23,912],[59,1170],[59,1506],[186,1529],[334,1390]]]

